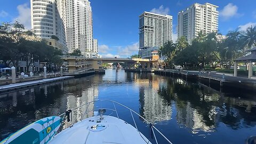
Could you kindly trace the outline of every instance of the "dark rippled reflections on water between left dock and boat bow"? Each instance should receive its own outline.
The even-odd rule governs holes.
[[[0,140],[23,126],[47,116],[58,116],[98,97],[102,76],[57,82],[0,95]],[[95,84],[96,83],[96,84]],[[93,109],[91,103],[89,109]],[[81,121],[86,109],[73,111],[73,122]],[[87,115],[92,116],[93,111]]]

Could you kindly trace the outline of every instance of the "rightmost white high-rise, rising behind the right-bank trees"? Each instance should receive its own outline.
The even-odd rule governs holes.
[[[185,36],[189,44],[199,31],[209,34],[218,31],[219,6],[195,3],[178,13],[178,37]]]

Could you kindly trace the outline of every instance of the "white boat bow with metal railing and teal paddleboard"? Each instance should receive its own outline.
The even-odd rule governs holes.
[[[89,106],[95,102],[113,103],[113,108],[92,108]],[[102,104],[102,103],[101,103]],[[133,125],[119,118],[116,105],[119,105],[130,111]],[[102,105],[101,105],[102,106]],[[110,106],[110,105],[107,105]],[[70,124],[72,119],[72,111],[76,111],[81,107],[86,107],[82,118],[91,111],[93,116],[83,119],[73,125]],[[108,113],[107,113],[108,112]],[[126,113],[125,113],[126,114]],[[145,137],[135,122],[134,115],[147,124],[150,130],[151,139]],[[131,122],[132,122],[131,121]],[[66,125],[65,125],[66,124]],[[63,129],[66,127],[66,129]],[[37,129],[37,131],[35,131]],[[59,129],[59,130],[58,130]],[[57,131],[58,130],[58,131]],[[158,142],[156,134],[161,136],[165,142]],[[153,139],[152,139],[153,138]],[[139,143],[171,143],[153,124],[150,124],[145,118],[140,116],[134,110],[122,105],[121,103],[111,100],[95,100],[84,103],[73,109],[69,109],[66,113],[59,116],[47,117],[34,122],[20,131],[10,135],[8,138],[0,142],[2,143],[78,143],[78,144],[139,144]]]

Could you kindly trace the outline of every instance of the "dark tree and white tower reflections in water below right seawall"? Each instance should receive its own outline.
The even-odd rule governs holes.
[[[213,132],[219,123],[232,129],[255,126],[255,100],[230,97],[204,85],[186,85],[182,79],[170,78],[164,83],[166,86],[159,86],[159,96],[175,102],[177,123],[189,127],[192,133]]]

